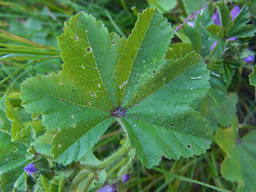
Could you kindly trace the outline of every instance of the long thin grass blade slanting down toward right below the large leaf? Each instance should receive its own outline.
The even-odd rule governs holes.
[[[209,184],[207,184],[205,182],[199,182],[199,181],[194,180],[192,178],[186,178],[186,177],[183,177],[183,176],[178,175],[178,174],[170,173],[170,172],[168,172],[166,170],[161,170],[161,169],[159,169],[158,167],[155,167],[155,166],[152,169],[156,170],[156,171],[158,171],[158,172],[160,172],[162,174],[170,175],[170,177],[177,178],[177,179],[179,179],[179,180],[181,180],[183,182],[192,182],[192,183],[196,183],[196,184],[201,185],[201,186],[209,187],[209,188],[211,188],[213,190],[218,190],[218,191],[222,191],[222,192],[231,192],[230,190],[225,190],[225,189],[219,188],[217,186],[212,186],[212,185],[209,185]]]

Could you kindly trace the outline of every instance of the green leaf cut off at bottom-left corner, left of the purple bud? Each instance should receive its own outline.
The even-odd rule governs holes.
[[[0,183],[3,192],[13,191],[15,181],[23,173],[27,161],[32,158],[26,150],[26,146],[11,142],[10,135],[0,131]]]

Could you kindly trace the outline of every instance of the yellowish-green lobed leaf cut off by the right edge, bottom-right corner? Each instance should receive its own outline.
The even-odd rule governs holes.
[[[243,138],[238,138],[238,119],[231,128],[216,132],[214,140],[227,154],[222,162],[221,173],[224,178],[238,182],[238,191],[256,190],[256,131],[251,131]]]

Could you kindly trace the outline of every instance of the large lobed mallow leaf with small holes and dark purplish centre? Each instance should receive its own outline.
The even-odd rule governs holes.
[[[62,71],[21,86],[22,105],[42,114],[43,126],[55,134],[54,161],[79,161],[116,120],[147,167],[162,156],[192,157],[210,148],[210,126],[190,108],[206,94],[209,71],[191,45],[169,49],[173,34],[166,18],[149,8],[127,40],[83,12],[66,22],[58,37]]]

